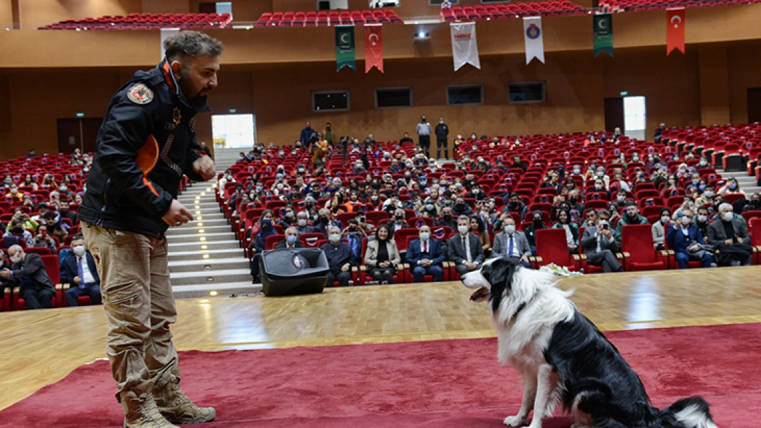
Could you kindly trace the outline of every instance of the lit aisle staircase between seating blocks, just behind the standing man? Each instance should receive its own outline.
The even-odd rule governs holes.
[[[217,149],[217,172],[237,160],[240,149]],[[167,230],[169,272],[176,298],[258,293],[251,284],[248,258],[215,199],[213,185],[197,182],[177,198],[195,220]]]

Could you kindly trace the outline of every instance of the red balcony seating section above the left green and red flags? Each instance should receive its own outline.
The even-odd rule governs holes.
[[[265,27],[335,27],[336,25],[404,24],[390,9],[369,11],[308,11],[265,12],[254,23],[255,28]]]

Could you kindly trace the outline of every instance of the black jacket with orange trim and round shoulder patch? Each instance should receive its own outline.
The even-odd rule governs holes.
[[[163,238],[169,210],[183,174],[201,156],[193,117],[209,106],[193,106],[183,95],[167,59],[138,71],[120,87],[97,135],[95,158],[79,218],[107,229]]]

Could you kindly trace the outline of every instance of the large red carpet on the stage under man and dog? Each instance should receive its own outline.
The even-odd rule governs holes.
[[[658,407],[702,395],[721,428],[759,426],[761,324],[615,331],[608,337]],[[522,385],[496,339],[182,353],[183,389],[213,427],[492,427]],[[75,369],[5,411],[0,427],[121,426],[105,361]],[[546,428],[567,428],[555,417]]]

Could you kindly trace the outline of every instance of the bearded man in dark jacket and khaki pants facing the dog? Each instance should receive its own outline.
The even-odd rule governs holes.
[[[215,176],[214,161],[200,154],[194,116],[209,111],[222,46],[204,33],[181,31],[164,48],[156,68],[136,72],[113,96],[79,208],[100,274],[107,354],[127,428],[216,417],[213,407],[196,406],[180,390],[164,233],[193,220],[177,201],[183,174],[194,181]]]

